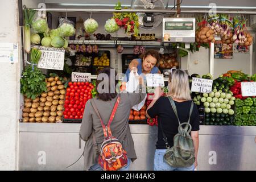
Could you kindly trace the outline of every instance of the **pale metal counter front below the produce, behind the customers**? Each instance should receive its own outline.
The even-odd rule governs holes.
[[[81,124],[20,123],[19,170],[82,170]],[[152,170],[157,127],[130,125],[138,159],[131,170]],[[197,170],[256,170],[256,127],[200,126]]]

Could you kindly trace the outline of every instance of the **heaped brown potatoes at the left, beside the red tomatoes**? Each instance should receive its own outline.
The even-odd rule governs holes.
[[[57,122],[62,120],[65,88],[59,77],[46,78],[47,92],[41,97],[24,97],[23,122]]]

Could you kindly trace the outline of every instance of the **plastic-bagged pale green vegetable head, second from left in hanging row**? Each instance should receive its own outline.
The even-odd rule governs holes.
[[[76,33],[73,22],[67,18],[60,18],[60,24],[58,28],[61,36],[73,36]]]

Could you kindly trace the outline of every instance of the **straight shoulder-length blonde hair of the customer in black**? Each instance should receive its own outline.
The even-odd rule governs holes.
[[[175,69],[169,77],[169,95],[179,100],[191,100],[188,75],[182,69]]]

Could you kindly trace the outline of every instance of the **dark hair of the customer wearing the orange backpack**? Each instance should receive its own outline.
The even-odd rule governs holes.
[[[115,85],[117,85],[118,84],[118,80],[115,80],[115,77],[117,76],[117,72],[115,71],[115,69],[113,69],[114,70],[114,73],[115,73],[115,75],[114,75],[114,77],[112,76],[110,76],[111,74],[111,70],[112,70],[113,68],[110,68],[110,67],[106,67],[106,68],[104,68],[104,69],[102,69],[99,73],[98,73],[98,76],[101,74],[101,73],[105,73],[106,75],[108,75],[108,78],[109,78],[109,88],[108,88],[108,90],[106,90],[107,91],[107,93],[98,93],[98,85],[102,82],[102,81],[104,81],[105,80],[105,78],[104,79],[102,79],[102,80],[98,80],[98,76],[97,76],[97,80],[96,80],[96,92],[97,92],[97,98],[98,99],[100,99],[100,100],[102,100],[102,101],[111,101],[112,100],[112,98],[115,98],[116,96],[117,96],[117,91],[115,90]],[[114,79],[114,80],[113,80]],[[113,85],[114,84],[114,85]],[[111,89],[112,88],[112,89]],[[104,85],[102,86],[102,89],[105,89],[104,88]],[[114,93],[112,92],[111,93],[111,91],[114,89]]]

